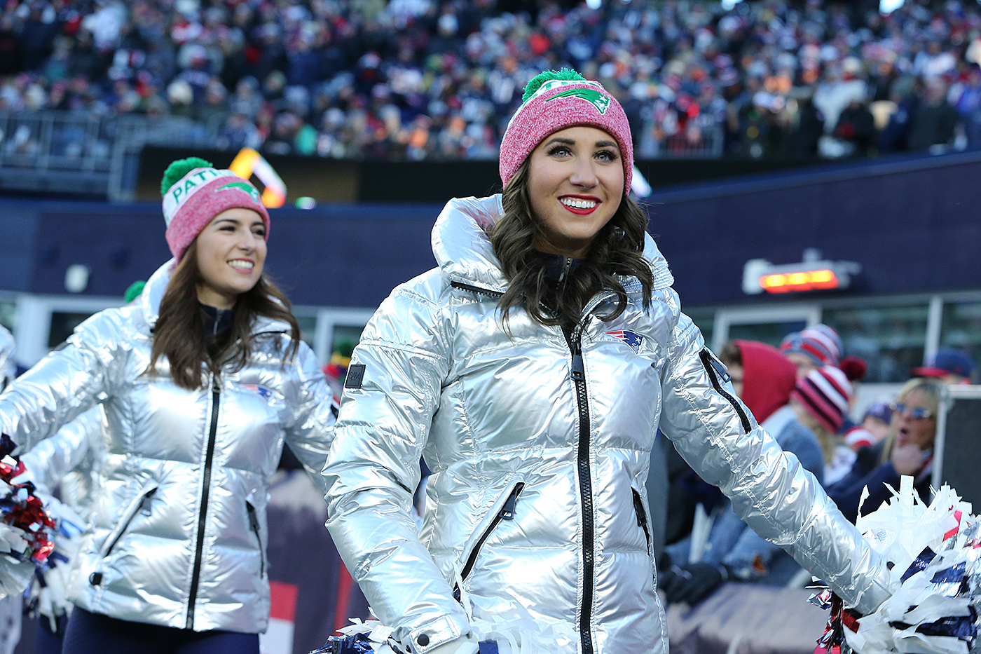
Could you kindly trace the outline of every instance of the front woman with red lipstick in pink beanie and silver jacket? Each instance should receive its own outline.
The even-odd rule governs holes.
[[[874,609],[885,561],[759,427],[681,312],[630,197],[619,102],[568,70],[523,100],[501,141],[503,191],[451,199],[433,229],[439,267],[365,327],[324,468],[337,549],[400,651],[476,654],[488,637],[666,651],[645,491],[658,429],[750,527]],[[419,530],[421,455],[433,474]]]

